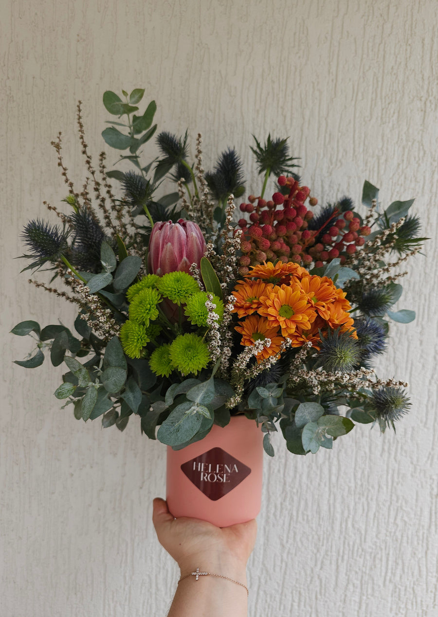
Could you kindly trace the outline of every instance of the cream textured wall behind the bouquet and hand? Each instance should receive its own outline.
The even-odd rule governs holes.
[[[120,434],[59,410],[51,393],[61,368],[12,365],[28,339],[7,334],[27,318],[72,325],[70,307],[29,286],[12,258],[22,225],[47,216],[43,199],[64,197],[49,144],[58,130],[71,175],[83,180],[77,99],[97,153],[103,91],[136,87],[156,99],[161,130],[203,133],[207,168],[235,146],[254,179],[251,133],[271,131],[290,135],[320,202],[358,201],[364,179],[386,204],[417,197],[432,240],[411,263],[400,308],[416,307],[418,318],[394,328],[379,367],[410,381],[411,414],[397,436],[358,426],[315,457],[293,457],[277,440],[249,614],[437,615],[436,7],[1,0],[2,615],[159,617],[177,580],[151,524],[151,500],[165,492],[164,447],[141,437],[135,419]]]

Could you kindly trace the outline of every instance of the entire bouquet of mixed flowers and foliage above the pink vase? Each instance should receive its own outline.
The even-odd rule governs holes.
[[[355,423],[394,428],[410,407],[407,384],[378,378],[373,358],[387,349],[391,320],[415,318],[393,309],[406,274],[399,266],[425,239],[408,213],[413,200],[383,209],[365,182],[363,215],[348,197],[314,211],[287,139],[269,135],[251,148],[261,193],[240,203],[237,220],[245,180],[234,149],[205,172],[201,136],[190,164],[187,132],[164,131],[159,157],[141,160],[157,128],[154,101],[137,115],[143,94],[103,96],[117,117],[104,141],[125,152],[119,162],[131,170],[108,171],[104,152],[95,169],[80,102],[87,177],[79,192],[61,133],[53,142],[69,212],[46,204],[59,224],[27,223],[24,270],[52,271],[49,283],[30,283],[77,305],[76,334],[19,323],[12,333],[36,339],[36,352],[17,364],[34,368],[48,352],[54,366],[67,366],[55,395],[75,418],[122,431],[137,415],[143,433],[174,449],[237,413],[261,426],[269,455],[278,429],[290,452],[305,454],[332,448]],[[164,180],[177,190],[159,197]]]

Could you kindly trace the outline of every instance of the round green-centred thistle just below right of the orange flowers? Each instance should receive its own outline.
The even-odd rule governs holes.
[[[348,332],[329,330],[321,336],[320,350],[316,365],[329,373],[348,373],[360,360],[360,347]]]

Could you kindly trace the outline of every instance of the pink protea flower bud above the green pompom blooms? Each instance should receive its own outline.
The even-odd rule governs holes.
[[[180,218],[177,223],[155,223],[149,242],[148,266],[151,274],[189,272],[192,263],[200,267],[207,249],[199,226]]]

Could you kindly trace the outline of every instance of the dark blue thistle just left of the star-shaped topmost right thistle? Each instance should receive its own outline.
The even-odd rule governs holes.
[[[205,179],[217,201],[228,199],[231,193],[234,197],[241,197],[245,191],[245,178],[237,152],[231,148],[222,152],[214,171],[206,173]]]

